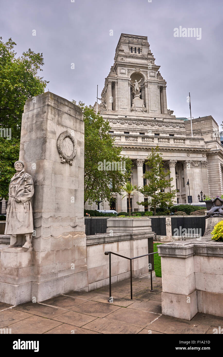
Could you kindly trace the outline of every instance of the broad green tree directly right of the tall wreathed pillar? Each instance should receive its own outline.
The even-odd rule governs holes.
[[[121,193],[120,186],[130,175],[132,160],[120,156],[122,147],[114,146],[114,139],[108,134],[109,122],[92,107],[82,102],[79,107],[83,110],[85,132],[84,203],[92,205],[96,201],[109,201],[112,192]]]

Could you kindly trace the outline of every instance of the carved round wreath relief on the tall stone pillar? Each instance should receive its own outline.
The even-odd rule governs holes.
[[[77,147],[74,137],[68,130],[59,135],[57,139],[57,150],[60,155],[61,164],[68,162],[69,165],[72,165],[72,161],[77,153]]]

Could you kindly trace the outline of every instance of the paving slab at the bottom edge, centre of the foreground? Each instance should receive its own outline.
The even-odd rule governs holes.
[[[141,330],[141,327],[127,325],[117,321],[111,323],[107,318],[97,318],[93,322],[85,325],[84,328],[103,334],[135,334]]]

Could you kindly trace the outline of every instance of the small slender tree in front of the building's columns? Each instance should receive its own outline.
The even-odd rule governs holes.
[[[162,154],[159,150],[159,146],[155,149],[152,148],[151,154],[148,156],[146,164],[150,167],[150,171],[146,171],[144,177],[149,181],[148,185],[140,188],[139,191],[143,193],[145,197],[151,197],[151,205],[154,207],[154,215],[156,214],[156,208],[158,206],[172,206],[177,190],[170,190],[170,192],[160,192],[165,188],[170,189],[171,181],[173,177],[167,179],[170,171],[167,172],[163,169]],[[138,205],[145,206],[146,202],[137,202]]]

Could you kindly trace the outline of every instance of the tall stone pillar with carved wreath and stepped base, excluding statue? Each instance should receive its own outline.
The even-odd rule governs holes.
[[[19,159],[34,180],[33,248],[2,250],[0,301],[17,305],[88,290],[79,107],[51,92],[27,100]]]

